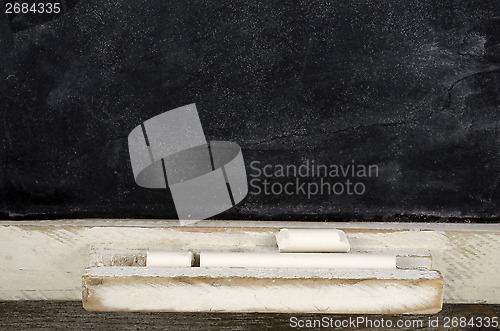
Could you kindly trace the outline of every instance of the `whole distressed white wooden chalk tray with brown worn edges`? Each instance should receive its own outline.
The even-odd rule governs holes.
[[[275,252],[279,229],[197,229],[213,239],[162,249]],[[205,232],[205,233],[204,233]],[[247,232],[246,240],[241,235]],[[265,237],[264,237],[265,236]],[[428,251],[371,247],[352,241],[351,252],[392,253],[397,269],[146,267],[159,247],[94,245],[83,275],[82,299],[91,311],[281,312],[431,314],[441,310],[444,281]],[[349,253],[346,253],[349,254]],[[198,266],[196,266],[198,265]]]

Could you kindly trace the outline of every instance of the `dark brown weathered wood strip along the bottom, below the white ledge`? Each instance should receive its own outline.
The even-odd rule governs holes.
[[[291,330],[290,318],[318,319],[327,316],[335,320],[347,315],[322,314],[250,314],[250,313],[140,313],[89,312],[74,301],[0,301],[0,329],[8,330],[190,330],[242,331]],[[351,315],[357,318],[363,315]],[[445,304],[443,310],[432,316],[370,315],[372,320],[390,320],[394,327],[386,330],[450,330],[443,327],[445,317],[500,316],[500,305]],[[366,317],[366,316],[364,316]],[[440,327],[428,326],[429,318],[439,319]],[[403,321],[411,327],[395,327]],[[420,326],[421,324],[421,326]],[[295,328],[297,329],[297,328]],[[362,324],[351,330],[375,330]],[[454,328],[453,330],[458,330]],[[479,329],[479,328],[476,328]],[[307,329],[310,330],[310,329]]]

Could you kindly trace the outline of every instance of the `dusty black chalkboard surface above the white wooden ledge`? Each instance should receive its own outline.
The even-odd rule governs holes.
[[[127,136],[191,103],[251,183],[216,219],[500,217],[498,1],[0,4],[1,219],[177,218]]]

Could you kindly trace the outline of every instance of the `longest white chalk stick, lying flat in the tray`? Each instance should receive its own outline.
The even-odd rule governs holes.
[[[354,253],[212,253],[200,254],[200,267],[396,269],[396,256]]]

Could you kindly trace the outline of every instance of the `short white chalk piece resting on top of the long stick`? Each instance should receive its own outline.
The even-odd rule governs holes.
[[[350,249],[344,231],[336,229],[281,229],[276,241],[284,253],[345,253]]]

